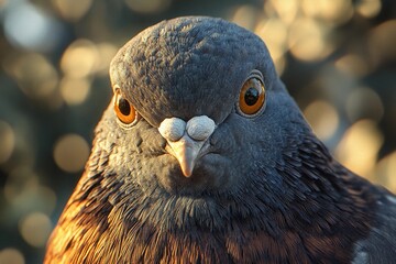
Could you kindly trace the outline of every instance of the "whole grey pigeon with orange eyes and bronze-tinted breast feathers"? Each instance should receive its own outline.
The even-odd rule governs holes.
[[[44,263],[396,263],[396,197],[332,157],[254,33],[162,21],[110,79]]]

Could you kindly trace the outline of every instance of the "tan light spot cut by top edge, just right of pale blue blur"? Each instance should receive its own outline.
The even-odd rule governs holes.
[[[58,13],[70,22],[80,20],[92,6],[92,0],[52,0]]]

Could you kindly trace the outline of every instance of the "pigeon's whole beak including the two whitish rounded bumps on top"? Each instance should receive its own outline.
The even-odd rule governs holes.
[[[187,123],[178,118],[161,122],[158,131],[168,143],[166,150],[177,158],[186,177],[193,175],[196,161],[205,155],[202,146],[207,145],[215,129],[215,121],[207,116],[194,117]]]

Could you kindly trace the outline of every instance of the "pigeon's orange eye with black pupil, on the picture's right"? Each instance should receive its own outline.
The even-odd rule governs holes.
[[[241,89],[239,97],[239,109],[244,114],[255,114],[264,106],[264,84],[256,77],[248,79]]]

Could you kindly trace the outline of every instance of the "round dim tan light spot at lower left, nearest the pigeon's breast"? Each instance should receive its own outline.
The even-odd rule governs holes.
[[[42,212],[28,215],[19,226],[22,238],[34,248],[44,246],[52,230],[50,218]]]

